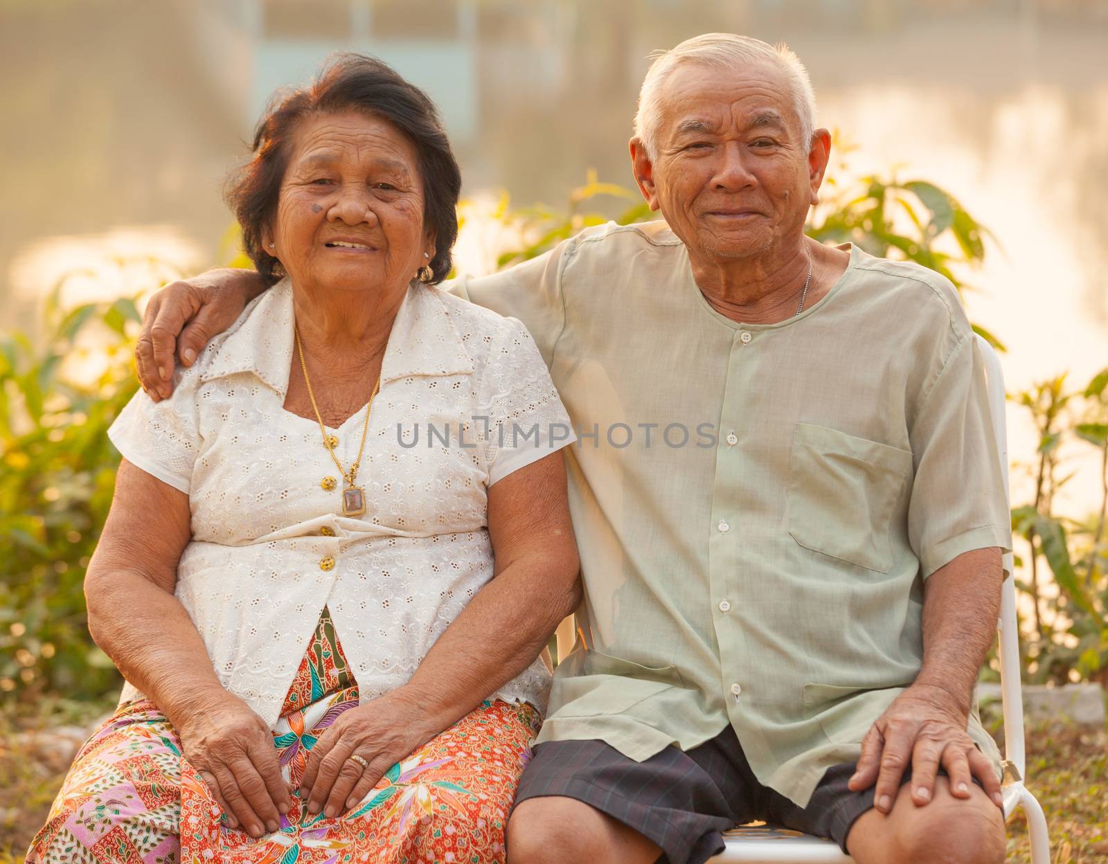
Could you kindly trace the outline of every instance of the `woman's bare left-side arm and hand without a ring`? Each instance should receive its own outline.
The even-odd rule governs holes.
[[[170,720],[233,827],[276,831],[289,791],[269,728],[219,683],[174,596],[188,496],[123,460],[84,593],[92,638]]]

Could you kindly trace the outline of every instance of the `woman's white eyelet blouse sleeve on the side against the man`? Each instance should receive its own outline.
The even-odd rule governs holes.
[[[489,485],[577,440],[535,340],[507,318],[479,389]]]

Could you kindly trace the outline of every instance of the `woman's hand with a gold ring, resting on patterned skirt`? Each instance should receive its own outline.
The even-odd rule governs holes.
[[[419,700],[403,688],[343,711],[308,757],[300,782],[308,812],[321,810],[332,819],[350,810],[386,771],[442,731],[425,729],[425,724]],[[361,757],[368,768],[351,755]]]

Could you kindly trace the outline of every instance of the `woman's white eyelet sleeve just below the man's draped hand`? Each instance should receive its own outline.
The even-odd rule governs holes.
[[[127,462],[186,494],[201,444],[197,380],[195,369],[185,370],[173,395],[161,402],[140,390],[107,430]]]

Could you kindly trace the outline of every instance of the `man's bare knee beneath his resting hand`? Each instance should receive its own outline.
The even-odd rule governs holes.
[[[897,831],[901,858],[914,864],[1001,864],[1004,819],[984,793],[919,808]]]

